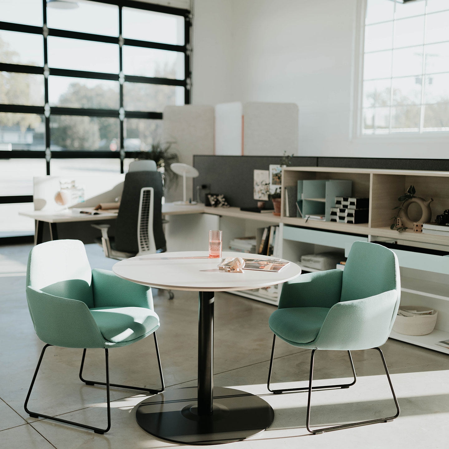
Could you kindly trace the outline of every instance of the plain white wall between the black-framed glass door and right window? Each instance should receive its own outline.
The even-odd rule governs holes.
[[[299,155],[448,158],[447,139],[352,136],[358,5],[197,0],[193,102],[297,103]]]

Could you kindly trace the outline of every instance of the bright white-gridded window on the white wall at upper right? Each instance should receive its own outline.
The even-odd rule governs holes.
[[[449,131],[449,0],[367,0],[362,134]]]

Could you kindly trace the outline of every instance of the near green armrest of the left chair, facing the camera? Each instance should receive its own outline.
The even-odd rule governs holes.
[[[105,339],[88,306],[26,287],[26,299],[37,336],[63,348],[104,348]]]

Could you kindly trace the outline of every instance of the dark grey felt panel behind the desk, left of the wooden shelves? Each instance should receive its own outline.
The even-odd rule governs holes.
[[[194,198],[197,186],[209,185],[210,193],[224,194],[230,206],[256,207],[253,198],[254,170],[268,170],[270,164],[280,164],[280,156],[194,156],[198,178],[194,178]],[[317,158],[295,156],[293,167],[316,167]],[[204,202],[204,190],[200,190]],[[268,202],[267,207],[272,207]]]

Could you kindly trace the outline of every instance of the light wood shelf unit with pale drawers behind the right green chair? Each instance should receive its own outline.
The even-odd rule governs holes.
[[[368,223],[346,224],[330,221],[306,220],[299,217],[286,217],[284,215],[285,187],[297,185],[298,180],[314,179],[343,179],[352,181],[352,196],[370,198],[370,213]],[[295,227],[298,229],[311,229],[320,231],[326,245],[335,242],[336,248],[342,247],[342,242],[350,236],[360,240],[398,242],[410,247],[421,247],[447,251],[449,255],[449,236],[437,236],[425,233],[415,233],[413,230],[398,232],[390,229],[391,217],[395,215],[393,208],[399,206],[397,198],[404,194],[410,185],[414,185],[416,195],[424,199],[433,198],[431,203],[432,220],[449,208],[449,172],[429,172],[414,170],[370,170],[355,168],[334,167],[284,167],[282,171],[282,197],[281,197],[281,223],[284,233],[285,256],[295,252],[295,245],[308,239],[293,237]],[[409,208],[410,218],[417,220],[421,211]],[[310,231],[307,231],[310,232]],[[349,235],[348,235],[349,234]],[[286,237],[285,237],[286,236]],[[321,239],[321,237],[318,236]],[[295,242],[297,240],[297,242]],[[317,242],[312,243],[317,244]],[[345,248],[346,255],[351,242]],[[309,247],[312,247],[309,245]],[[287,254],[288,253],[288,254]],[[403,269],[420,270],[425,276],[414,278],[403,276],[402,297],[404,304],[413,302],[427,304],[439,312],[436,329],[429,335],[402,335],[392,331],[390,337],[407,343],[413,343],[424,348],[449,354],[449,349],[436,345],[440,340],[449,339],[449,256],[431,255],[410,250],[396,250],[398,260]],[[293,259],[292,259],[293,260]],[[297,259],[296,259],[297,260]],[[307,268],[304,268],[307,270]],[[444,280],[441,281],[441,276]],[[428,278],[428,279],[427,279]],[[433,279],[432,279],[433,278]],[[437,280],[435,280],[437,279]]]

